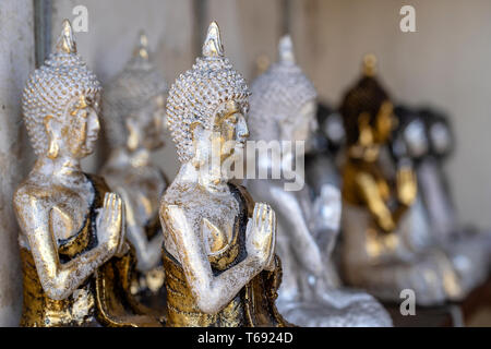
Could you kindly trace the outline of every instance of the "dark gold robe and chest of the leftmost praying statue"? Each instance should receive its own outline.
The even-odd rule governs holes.
[[[68,231],[64,238],[53,237],[58,245],[59,258],[62,264],[97,245],[96,215],[103,206],[103,198],[108,188],[100,178],[88,176],[92,185],[92,203],[86,214],[80,219],[77,210],[72,212],[76,196],[69,196],[62,190],[55,191],[46,200],[51,206],[50,225],[57,225],[55,231]],[[50,190],[52,191],[52,189]],[[43,194],[36,193],[36,195]],[[46,192],[45,192],[46,194]],[[58,194],[58,195],[57,195]],[[64,200],[63,200],[64,198]],[[80,198],[79,198],[80,201]],[[77,227],[81,221],[81,228]],[[20,238],[22,267],[24,277],[24,305],[21,326],[144,326],[158,325],[149,317],[139,314],[139,305],[129,297],[129,277],[134,263],[131,253],[122,257],[112,257],[91,275],[67,299],[50,299],[39,280],[33,254],[23,236]],[[116,280],[116,275],[119,280]],[[119,282],[119,284],[116,284]],[[124,299],[124,300],[123,300]],[[116,302],[115,302],[116,301]],[[129,309],[125,309],[127,304]],[[131,313],[131,314],[130,314]]]

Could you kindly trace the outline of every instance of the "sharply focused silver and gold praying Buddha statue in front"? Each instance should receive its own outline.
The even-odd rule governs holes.
[[[167,99],[180,170],[160,205],[167,326],[285,326],[276,216],[231,183],[225,165],[249,136],[249,89],[213,22],[202,57]]]

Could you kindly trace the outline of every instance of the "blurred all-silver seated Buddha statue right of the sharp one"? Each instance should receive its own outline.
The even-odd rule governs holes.
[[[279,41],[279,61],[254,81],[251,92],[249,124],[256,144],[308,143],[318,127],[316,92],[295,62],[289,36]],[[288,159],[296,168],[303,166],[303,154],[295,148],[271,146],[270,154],[260,153],[256,171],[282,166],[282,173],[286,173],[291,171]],[[284,267],[279,312],[300,326],[391,326],[391,317],[371,296],[338,288],[331,260],[342,208],[336,183],[320,184],[314,200],[309,185],[286,190],[286,181],[284,176],[247,182],[252,196],[271,203],[277,215],[276,248]]]

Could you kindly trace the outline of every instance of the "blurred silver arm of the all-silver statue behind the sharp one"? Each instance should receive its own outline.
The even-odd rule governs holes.
[[[308,227],[298,198],[283,188],[273,186],[267,202],[274,205],[275,212],[285,221],[285,225],[282,225],[284,231],[280,233],[289,234],[289,245],[294,249],[297,258],[310,273],[320,275],[324,269],[321,251]]]

